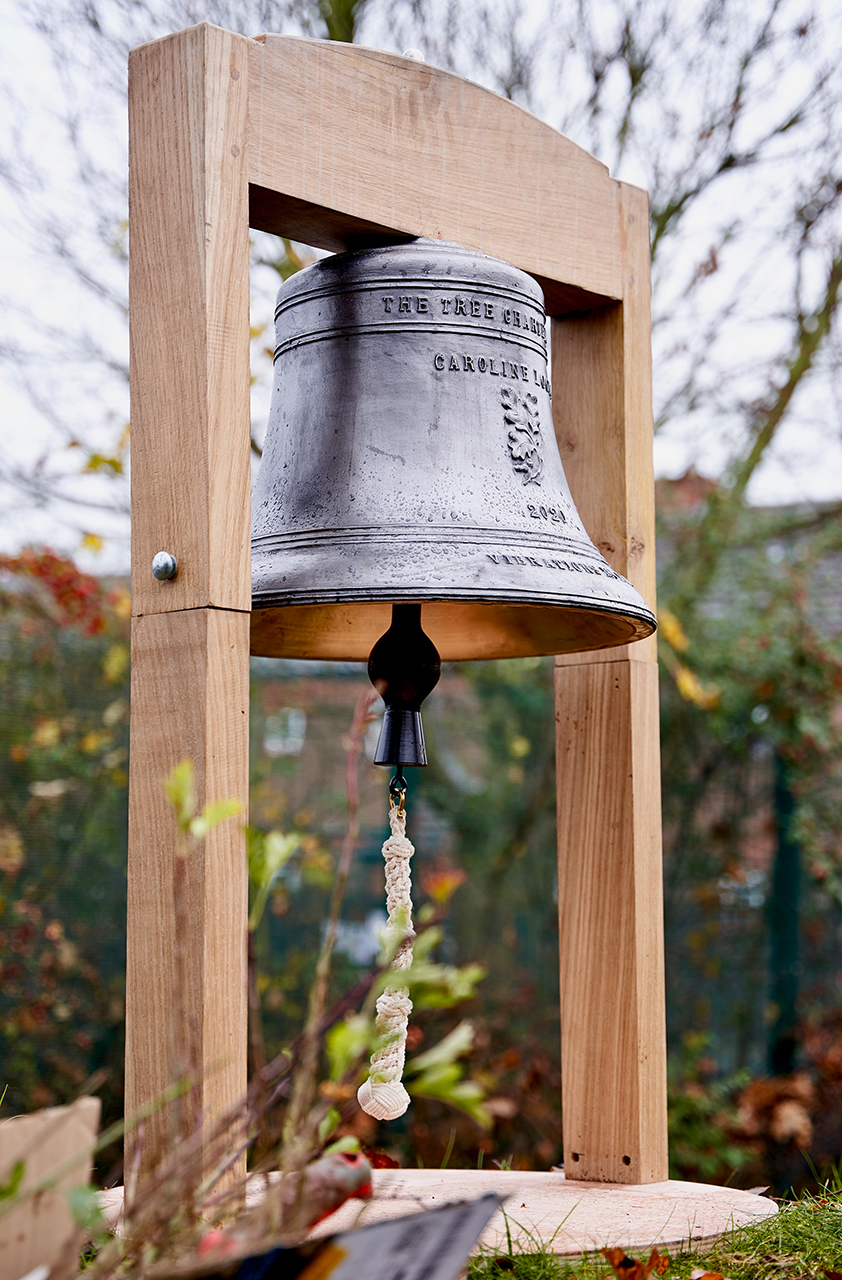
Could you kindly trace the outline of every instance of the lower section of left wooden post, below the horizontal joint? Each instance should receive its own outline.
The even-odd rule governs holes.
[[[171,1083],[184,1037],[201,1076],[201,1108],[218,1116],[246,1092],[248,621],[247,613],[191,609],[132,622],[129,1116]],[[163,783],[186,758],[196,768],[197,806],[233,796],[242,817],[225,819],[191,847],[187,922],[177,931],[173,873],[183,846]],[[147,1164],[165,1149],[171,1123],[165,1111],[146,1123]]]

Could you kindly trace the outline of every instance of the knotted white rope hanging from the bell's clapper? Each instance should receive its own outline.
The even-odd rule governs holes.
[[[392,835],[383,846],[389,911],[386,937],[390,942],[395,941],[395,934],[403,940],[392,961],[392,968],[401,970],[408,969],[412,964],[415,929],[409,859],[415,847],[406,836],[407,815],[395,805],[389,809],[389,827]],[[376,1007],[375,1030],[377,1038],[385,1043],[371,1055],[369,1079],[357,1089],[357,1102],[375,1120],[397,1120],[409,1106],[409,1094],[401,1083],[407,1052],[407,1020],[412,1012],[409,992],[406,987],[386,987]]]

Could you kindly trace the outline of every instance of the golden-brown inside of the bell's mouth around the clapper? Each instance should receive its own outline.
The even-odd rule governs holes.
[[[417,602],[418,596],[407,599]],[[619,613],[586,600],[555,607],[453,599],[420,603],[424,630],[443,662],[586,653],[644,640],[655,630],[645,607],[624,605]],[[367,662],[390,616],[392,600],[385,599],[255,608],[251,652],[264,658]]]

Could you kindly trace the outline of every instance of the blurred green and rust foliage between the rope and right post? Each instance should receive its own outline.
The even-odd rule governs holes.
[[[560,1157],[553,662],[450,671],[425,708],[430,764],[411,813],[430,805],[456,855],[420,876],[424,890],[435,901],[441,882],[465,878],[436,945],[485,970],[467,1010],[475,1039],[466,1069],[505,1116],[479,1149],[476,1130],[457,1125],[450,1164],[476,1166],[482,1153],[546,1169]],[[418,1024],[430,1038],[454,1027],[434,1011]],[[449,1126],[434,1092],[415,1102],[411,1124],[409,1158],[430,1166],[441,1161]]]

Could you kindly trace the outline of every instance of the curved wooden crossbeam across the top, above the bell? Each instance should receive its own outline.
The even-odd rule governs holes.
[[[622,297],[617,184],[522,108],[425,63],[293,36],[251,42],[250,76],[252,225],[326,248],[456,241],[540,278],[550,311]]]

